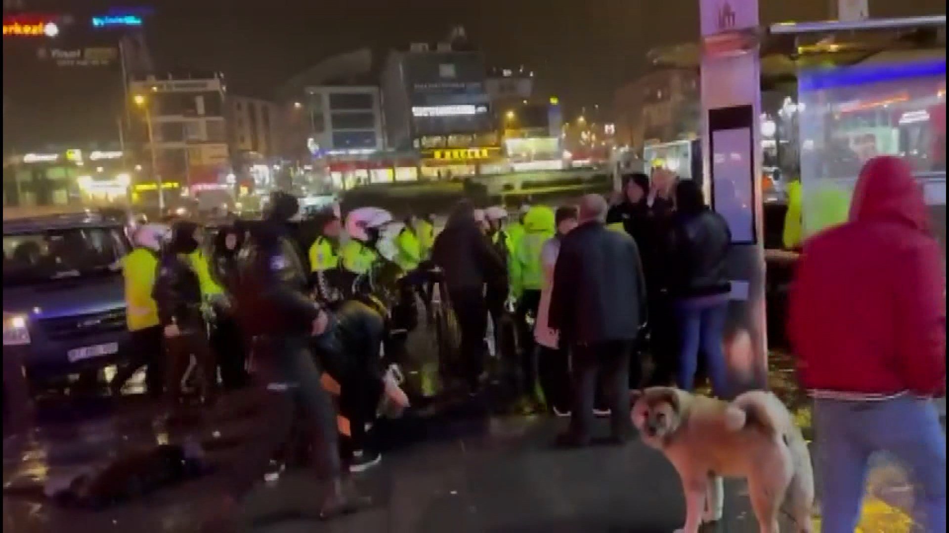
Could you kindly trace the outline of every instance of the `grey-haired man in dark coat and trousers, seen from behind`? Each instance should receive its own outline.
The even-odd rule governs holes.
[[[590,440],[598,371],[605,373],[612,439],[631,431],[627,397],[630,358],[646,319],[645,280],[636,242],[607,230],[606,201],[587,194],[580,204],[580,226],[561,244],[550,295],[549,325],[560,331],[573,360],[573,409],[561,444],[586,446]],[[633,366],[639,372],[639,361]]]

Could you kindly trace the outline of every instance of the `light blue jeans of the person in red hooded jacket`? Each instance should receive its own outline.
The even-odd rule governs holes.
[[[946,440],[932,401],[911,395],[883,401],[818,399],[815,465],[823,533],[852,533],[860,516],[870,454],[887,451],[917,485],[914,519],[946,530]]]

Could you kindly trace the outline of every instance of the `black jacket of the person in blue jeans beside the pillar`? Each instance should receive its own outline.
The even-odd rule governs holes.
[[[716,211],[677,214],[668,232],[669,292],[677,298],[731,290],[726,259],[732,233]]]

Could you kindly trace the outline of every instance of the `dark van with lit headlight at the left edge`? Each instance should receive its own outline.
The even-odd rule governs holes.
[[[37,382],[90,375],[127,345],[123,221],[78,213],[5,220],[3,351]]]

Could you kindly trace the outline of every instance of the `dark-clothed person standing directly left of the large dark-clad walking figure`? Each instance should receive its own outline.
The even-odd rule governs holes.
[[[243,246],[244,230],[236,226],[225,226],[214,237],[212,274],[217,284],[224,287],[227,303],[215,306],[211,346],[217,356],[221,382],[228,390],[248,383],[246,343],[231,305],[240,279],[237,254]]]

